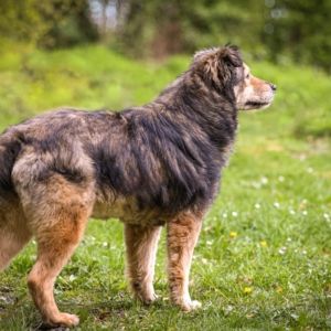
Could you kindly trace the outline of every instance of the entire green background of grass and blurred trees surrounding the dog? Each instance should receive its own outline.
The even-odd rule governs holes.
[[[331,1],[1,0],[0,13],[1,130],[64,105],[142,105],[195,51],[227,42],[278,86],[267,110],[239,114],[236,150],[193,261],[203,309],[170,306],[164,236],[161,299],[135,303],[121,225],[92,222],[55,287],[82,330],[331,328]],[[34,258],[31,243],[0,275],[0,330],[40,325],[25,284]]]

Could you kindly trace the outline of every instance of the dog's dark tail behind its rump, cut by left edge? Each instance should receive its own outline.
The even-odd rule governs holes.
[[[4,132],[0,136],[0,194],[14,191],[11,173],[21,149],[22,141],[17,135]]]

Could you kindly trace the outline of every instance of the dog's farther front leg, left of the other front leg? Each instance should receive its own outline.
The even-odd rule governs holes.
[[[160,226],[125,224],[127,275],[135,296],[145,303],[157,298],[153,276],[160,231]]]

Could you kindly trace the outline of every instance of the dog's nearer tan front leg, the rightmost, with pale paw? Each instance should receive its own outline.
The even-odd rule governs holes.
[[[185,311],[201,307],[189,293],[189,274],[202,218],[183,213],[168,223],[168,273],[172,302]]]

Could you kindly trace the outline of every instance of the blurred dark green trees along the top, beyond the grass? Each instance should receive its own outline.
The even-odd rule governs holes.
[[[0,42],[55,49],[102,39],[154,58],[231,42],[255,58],[331,72],[329,0],[2,0],[0,11]]]

